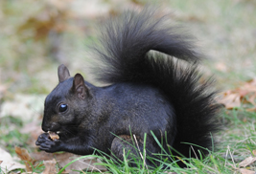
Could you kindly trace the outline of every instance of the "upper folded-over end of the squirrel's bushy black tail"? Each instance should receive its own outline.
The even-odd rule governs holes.
[[[138,73],[136,68],[140,68],[150,51],[198,62],[200,54],[195,52],[194,38],[180,34],[180,27],[170,26],[168,17],[156,17],[156,9],[146,8],[110,19],[102,32],[102,47],[95,48],[105,65],[97,67],[97,78],[107,83],[132,81]]]

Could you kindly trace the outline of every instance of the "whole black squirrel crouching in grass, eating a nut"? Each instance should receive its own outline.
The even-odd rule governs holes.
[[[165,21],[149,9],[108,21],[96,48],[105,65],[95,74],[110,85],[96,87],[60,65],[59,83],[45,99],[45,133],[36,145],[79,155],[96,148],[122,159],[124,147],[133,151],[124,144],[134,141],[131,135],[142,150],[147,133],[147,152],[160,153],[152,132],[174,155],[207,155],[219,127],[216,92],[209,91],[211,79],[201,80],[193,39]],[[52,141],[49,131],[59,139]]]

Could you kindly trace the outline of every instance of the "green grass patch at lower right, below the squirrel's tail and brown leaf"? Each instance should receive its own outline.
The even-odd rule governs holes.
[[[244,115],[247,116],[244,120]],[[231,111],[223,114],[222,120],[228,124],[228,130],[222,131],[219,135],[219,145],[215,152],[211,152],[205,159],[180,159],[186,163],[189,168],[180,168],[175,162],[161,160],[159,167],[145,167],[144,159],[133,159],[137,166],[128,166],[128,158],[124,162],[116,162],[113,159],[107,159],[106,156],[98,156],[110,173],[238,173],[238,163],[242,162],[246,157],[254,156],[252,150],[255,150],[256,145],[256,129],[255,129],[255,113],[247,113],[244,111]],[[236,120],[235,123],[230,120]],[[227,128],[226,128],[227,129]],[[241,132],[242,131],[242,132]],[[223,135],[223,132],[225,134]],[[160,142],[158,142],[159,145]],[[134,146],[136,146],[134,144]],[[163,150],[164,152],[164,150]],[[168,156],[163,153],[162,159]],[[97,157],[97,156],[96,156]],[[125,157],[128,157],[125,156]],[[144,157],[144,155],[143,155]],[[170,157],[170,155],[169,155]],[[150,159],[150,157],[147,156]],[[165,167],[161,167],[165,166]],[[254,164],[247,166],[247,169],[255,171]],[[88,171],[87,171],[88,172]]]

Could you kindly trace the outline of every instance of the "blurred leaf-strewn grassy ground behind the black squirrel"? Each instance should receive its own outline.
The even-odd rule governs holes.
[[[98,42],[99,24],[107,16],[119,15],[126,9],[140,10],[147,3],[146,0],[1,1],[0,148],[12,158],[17,157],[15,145],[24,147],[31,155],[37,153],[35,139],[41,131],[43,102],[58,83],[58,65],[64,63],[72,76],[81,73],[87,80],[100,84],[89,74],[93,61],[89,47]],[[256,77],[256,3],[164,0],[151,4],[158,6],[161,13],[169,13],[174,25],[182,25],[195,35],[198,48],[206,57],[201,63],[204,76],[214,76],[219,97],[227,98],[220,101],[225,107],[220,114],[222,130],[217,135],[216,152],[204,161],[192,161],[189,169],[177,167],[170,173],[255,171],[255,162],[248,161],[253,162],[256,156],[256,84],[252,80]],[[37,162],[43,161],[42,156]],[[245,166],[239,165],[245,159]],[[105,165],[113,173],[137,171],[126,163]],[[42,172],[44,166],[47,164],[34,171]],[[2,172],[5,173],[3,168]]]

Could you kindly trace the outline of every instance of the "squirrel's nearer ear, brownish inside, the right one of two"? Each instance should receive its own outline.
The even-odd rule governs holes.
[[[81,74],[77,74],[73,79],[73,86],[71,88],[73,93],[77,94],[79,98],[84,99],[88,88],[85,86],[84,79]]]

